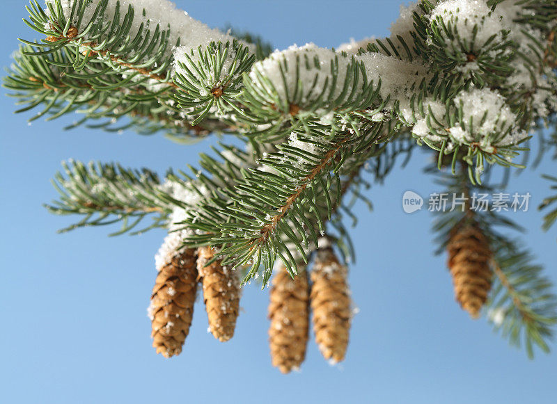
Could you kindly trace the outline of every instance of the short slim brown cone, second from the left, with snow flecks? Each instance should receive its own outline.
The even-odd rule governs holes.
[[[210,247],[198,249],[197,270],[203,284],[203,299],[209,318],[209,329],[216,339],[228,341],[234,335],[240,309],[240,282],[234,270],[214,261]]]

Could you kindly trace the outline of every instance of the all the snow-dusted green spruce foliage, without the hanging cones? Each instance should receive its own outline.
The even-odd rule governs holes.
[[[523,168],[517,156],[542,138],[540,128],[556,128],[556,0],[421,0],[402,8],[389,38],[274,52],[166,0],[125,3],[31,1],[24,22],[42,39],[20,40],[4,79],[18,112],[40,108],[31,120],[80,113],[72,127],[163,132],[179,142],[228,134],[244,150],[224,142],[191,174],[163,179],[70,161],[55,177],[61,197],[47,208],[81,216],[68,229],[180,232],[183,246],[211,246],[223,266],[245,270],[244,282],[261,273],[267,284],[276,261],[295,276],[324,234],[351,257],[343,221],[355,221],[350,207],[366,200],[364,174],[384,181],[418,145],[437,161],[432,175],[469,194],[502,189],[489,172]],[[556,139],[542,139],[542,154],[553,148],[556,158]],[[557,220],[556,200],[542,206],[545,229]],[[441,244],[470,217],[438,215]],[[548,350],[557,321],[551,285],[508,236],[512,223],[493,211],[473,216],[496,251],[485,314],[512,343],[523,339],[528,355],[534,345]]]

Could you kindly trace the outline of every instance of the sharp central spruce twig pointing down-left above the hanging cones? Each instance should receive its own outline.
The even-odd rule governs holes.
[[[223,181],[223,188],[187,213],[184,228],[196,234],[186,245],[222,246],[224,264],[251,267],[245,280],[262,264],[265,284],[277,258],[292,269],[317,245],[317,234],[325,231],[325,222],[355,179],[352,172],[383,151],[374,145],[382,129],[381,122],[374,122],[359,136],[355,131],[327,136],[314,128],[320,140],[294,132],[276,146],[278,152],[240,175],[233,173],[233,181]]]

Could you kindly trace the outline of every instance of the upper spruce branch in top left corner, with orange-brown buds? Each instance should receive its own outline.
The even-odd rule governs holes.
[[[113,70],[131,70],[159,81],[163,86],[174,86],[168,74],[170,60],[162,57],[168,47],[175,45],[168,44],[166,27],[157,24],[154,29],[146,29],[142,33],[141,24],[136,35],[132,36],[134,13],[140,10],[134,10],[131,4],[127,11],[120,10],[119,2],[116,2],[116,10],[107,10],[108,6],[108,0],[100,0],[91,19],[84,21],[86,11],[92,7],[87,1],[73,1],[69,15],[64,13],[60,0],[47,2],[47,11],[42,10],[36,0],[32,1],[31,8],[27,7],[31,22],[26,23],[35,31],[47,35],[46,40],[33,45],[49,48],[33,54],[38,56],[68,47],[72,49],[71,61],[77,70],[81,70],[90,58],[96,57],[104,59]],[[111,22],[99,18],[107,12],[113,12]],[[74,23],[77,26],[72,25]],[[45,27],[49,29],[45,31]]]

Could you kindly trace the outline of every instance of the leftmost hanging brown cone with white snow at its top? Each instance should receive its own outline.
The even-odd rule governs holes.
[[[197,291],[196,250],[177,251],[180,241],[171,234],[157,254],[159,273],[152,289],[148,314],[152,346],[164,357],[182,352],[189,332]]]

